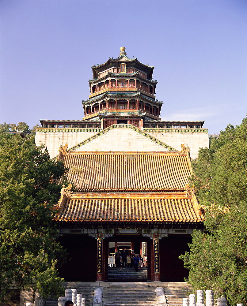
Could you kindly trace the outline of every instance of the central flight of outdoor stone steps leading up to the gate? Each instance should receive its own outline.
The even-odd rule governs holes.
[[[155,287],[149,286],[146,282],[105,284],[103,286],[102,306],[157,305]]]

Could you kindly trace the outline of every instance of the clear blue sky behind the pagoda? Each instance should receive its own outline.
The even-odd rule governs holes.
[[[247,113],[246,0],[2,0],[0,123],[81,119],[91,65],[154,65],[163,120],[210,133]]]

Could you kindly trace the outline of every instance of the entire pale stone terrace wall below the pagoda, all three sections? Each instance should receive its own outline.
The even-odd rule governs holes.
[[[58,155],[60,144],[69,144],[68,149],[83,140],[97,134],[97,132],[36,132],[37,146],[44,144],[51,158]],[[174,133],[150,132],[149,135],[161,140],[165,144],[181,151],[181,144],[190,147],[192,159],[197,157],[200,147],[209,147],[208,133]],[[156,144],[132,129],[112,129],[102,136],[90,141],[77,151],[167,151],[165,147]]]

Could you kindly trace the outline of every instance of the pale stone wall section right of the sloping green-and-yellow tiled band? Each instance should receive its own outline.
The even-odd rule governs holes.
[[[190,148],[192,159],[197,158],[199,148],[209,147],[208,133],[148,133],[165,144],[181,151],[181,144]]]

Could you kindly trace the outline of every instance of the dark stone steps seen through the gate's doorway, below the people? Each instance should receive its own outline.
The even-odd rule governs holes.
[[[146,282],[147,268],[138,268],[135,272],[133,267],[108,267],[109,282]]]

